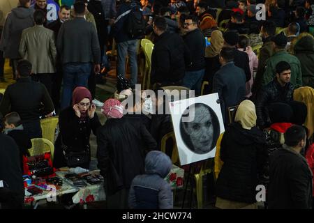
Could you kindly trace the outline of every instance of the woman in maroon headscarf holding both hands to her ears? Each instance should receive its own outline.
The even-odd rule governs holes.
[[[53,165],[59,167],[82,167],[89,169],[91,130],[96,135],[101,126],[96,106],[88,89],[78,86],[73,91],[72,106],[59,115],[59,136],[54,144]]]

